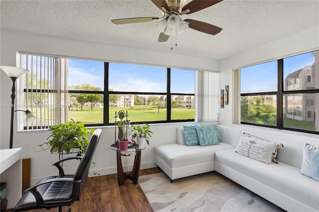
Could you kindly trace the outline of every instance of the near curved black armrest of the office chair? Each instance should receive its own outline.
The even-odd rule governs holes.
[[[24,193],[26,192],[31,192],[33,194],[33,196],[35,197],[35,200],[36,200],[36,203],[39,205],[39,206],[42,206],[42,207],[45,207],[45,205],[47,204],[42,196],[40,195],[40,193],[36,190],[36,188],[38,186],[41,186],[43,184],[47,184],[47,183],[53,183],[53,182],[63,182],[63,181],[67,181],[67,182],[72,182],[72,183],[75,183],[75,184],[79,184],[81,183],[81,180],[74,180],[74,178],[54,178],[54,179],[50,179],[50,180],[46,180],[46,181],[43,181],[41,183],[38,183],[30,188],[28,188],[27,190],[24,191]],[[55,202],[59,202],[59,201],[55,201]],[[50,201],[50,203],[55,203],[55,202],[52,202]]]

